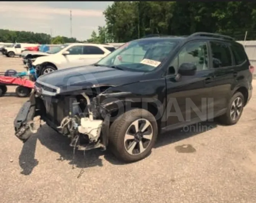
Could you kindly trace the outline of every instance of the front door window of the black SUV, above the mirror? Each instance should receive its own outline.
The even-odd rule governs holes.
[[[178,68],[183,63],[191,63],[196,66],[196,71],[209,69],[207,42],[190,42],[186,44],[180,53],[173,59],[169,66],[169,75],[178,73]]]

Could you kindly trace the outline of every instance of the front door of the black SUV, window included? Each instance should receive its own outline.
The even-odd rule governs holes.
[[[209,67],[207,41],[186,43],[169,66],[167,83],[167,126],[196,123],[211,117],[213,70]],[[180,76],[178,67],[191,63],[197,67],[193,76]],[[180,76],[178,78],[178,76]],[[210,115],[208,115],[210,113]]]

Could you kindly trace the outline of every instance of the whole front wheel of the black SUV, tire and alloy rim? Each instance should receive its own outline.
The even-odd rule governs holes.
[[[132,109],[120,115],[110,126],[110,150],[126,162],[145,158],[157,138],[157,121],[144,109]]]

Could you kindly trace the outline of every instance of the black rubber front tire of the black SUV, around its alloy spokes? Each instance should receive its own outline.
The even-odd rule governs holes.
[[[125,141],[125,134],[129,129],[134,129],[133,123],[137,121],[149,122],[149,127],[146,128],[149,131],[148,136],[151,136],[151,140],[141,139],[143,144],[143,151],[139,151],[140,141],[138,136],[131,136],[132,139]],[[142,124],[141,124],[142,125]],[[140,126],[141,127],[141,126]],[[145,131],[143,131],[145,133]],[[125,162],[134,162],[145,158],[151,152],[157,139],[158,127],[155,117],[144,109],[132,109],[122,115],[120,115],[109,129],[109,146],[113,154],[120,160]],[[131,138],[129,137],[129,138]],[[146,135],[144,135],[146,137]],[[135,144],[136,142],[136,144]],[[129,150],[129,146],[133,145],[133,150]],[[129,152],[130,151],[130,152]],[[136,153],[137,152],[137,153]],[[139,152],[139,153],[138,153]],[[134,153],[134,154],[133,154]]]

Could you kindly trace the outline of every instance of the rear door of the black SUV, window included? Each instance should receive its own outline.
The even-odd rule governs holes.
[[[225,41],[211,41],[212,68],[214,69],[214,113],[225,111],[228,105],[232,84],[236,79],[231,43]]]

